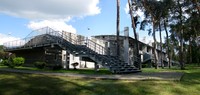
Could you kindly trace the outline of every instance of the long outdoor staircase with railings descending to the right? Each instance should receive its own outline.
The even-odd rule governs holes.
[[[45,30],[45,28],[43,29]],[[129,65],[116,56],[110,56],[108,49],[81,35],[58,32],[48,27],[46,27],[45,31],[46,32],[43,34],[31,37],[31,39],[22,46],[19,45],[19,47],[7,49],[24,49],[47,45],[58,45],[73,55],[89,57],[95,61],[97,65],[108,68],[112,73],[120,74],[140,72],[140,70],[138,70],[134,65]],[[40,38],[42,40],[38,41],[39,38],[36,37],[43,38]]]

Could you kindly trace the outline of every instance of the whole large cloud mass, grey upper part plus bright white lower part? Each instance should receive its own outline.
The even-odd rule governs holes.
[[[49,26],[75,33],[67,22],[99,14],[98,4],[99,0],[0,0],[0,13],[29,19],[27,26],[33,30]]]

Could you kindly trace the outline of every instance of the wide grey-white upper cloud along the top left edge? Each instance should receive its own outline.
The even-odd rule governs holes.
[[[0,12],[30,20],[65,19],[99,14],[99,0],[0,0]]]

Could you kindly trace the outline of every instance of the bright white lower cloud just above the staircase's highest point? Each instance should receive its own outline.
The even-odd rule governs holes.
[[[67,25],[63,20],[43,20],[43,21],[31,21],[28,24],[28,28],[36,30],[43,27],[51,27],[56,31],[67,31],[71,33],[76,33],[76,29],[72,25]]]

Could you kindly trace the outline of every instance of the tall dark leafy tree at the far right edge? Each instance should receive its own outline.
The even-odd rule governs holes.
[[[199,25],[200,25],[200,5],[198,4],[197,0],[186,0],[185,2],[187,8],[186,13],[188,14],[188,19],[185,22],[185,26],[187,27],[186,35],[184,39],[189,41],[188,46],[188,54],[187,54],[187,63],[193,63],[196,60],[195,53],[192,53],[193,49],[196,50],[195,40],[200,35]],[[198,50],[198,49],[197,49]]]

